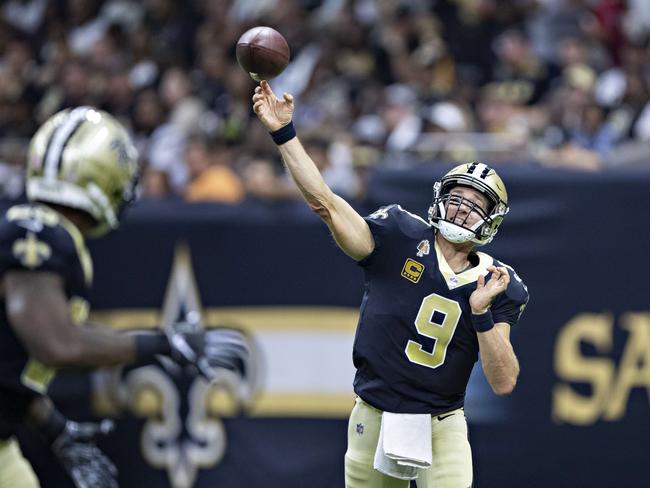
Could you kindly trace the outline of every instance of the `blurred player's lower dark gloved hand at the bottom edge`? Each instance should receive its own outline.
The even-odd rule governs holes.
[[[97,435],[107,434],[113,422],[78,423],[66,421],[52,443],[52,451],[76,488],[118,488],[117,468],[95,445]]]

